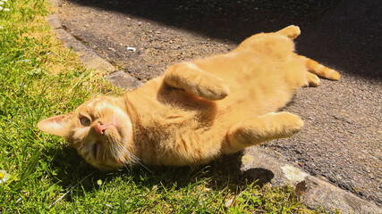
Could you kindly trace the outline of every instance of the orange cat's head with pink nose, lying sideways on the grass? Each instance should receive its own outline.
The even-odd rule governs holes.
[[[132,121],[121,98],[92,98],[72,113],[41,120],[38,128],[65,137],[98,169],[118,169],[134,160]]]

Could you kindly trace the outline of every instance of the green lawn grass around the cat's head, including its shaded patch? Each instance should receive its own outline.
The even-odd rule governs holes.
[[[45,21],[44,0],[3,6],[10,11],[0,11],[0,169],[9,177],[0,184],[1,213],[322,212],[304,208],[293,188],[244,177],[237,155],[197,169],[93,169],[36,124],[91,96],[123,91],[64,49]]]

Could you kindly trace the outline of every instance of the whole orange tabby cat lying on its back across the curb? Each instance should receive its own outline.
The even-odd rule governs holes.
[[[64,136],[98,169],[127,164],[196,165],[221,153],[299,132],[302,120],[278,112],[316,75],[340,74],[294,53],[300,29],[260,33],[230,53],[182,62],[123,97],[99,96],[38,128]]]

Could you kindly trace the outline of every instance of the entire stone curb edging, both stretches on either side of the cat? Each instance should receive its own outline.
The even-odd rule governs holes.
[[[60,0],[51,0],[51,4],[59,7]],[[89,69],[103,70],[108,79],[115,86],[124,88],[137,88],[143,86],[138,79],[132,78],[121,70],[106,62],[87,45],[72,37],[61,23],[57,14],[47,17],[57,37],[64,42],[66,48],[78,53],[80,61]],[[267,151],[259,146],[252,146],[242,156],[242,171],[260,183],[270,185],[293,185],[301,192],[301,201],[311,209],[324,208],[330,213],[377,213],[382,210],[373,202],[365,201],[353,193],[331,185],[326,181],[312,177],[309,173],[297,169],[276,153]]]

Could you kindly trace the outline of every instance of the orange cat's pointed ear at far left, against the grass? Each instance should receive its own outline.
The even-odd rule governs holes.
[[[38,129],[47,134],[66,137],[69,133],[70,125],[70,119],[67,118],[70,116],[72,116],[72,113],[43,119],[38,122]]]

